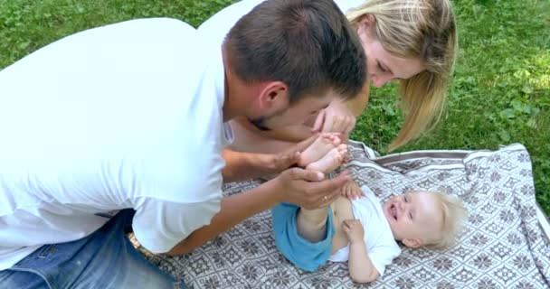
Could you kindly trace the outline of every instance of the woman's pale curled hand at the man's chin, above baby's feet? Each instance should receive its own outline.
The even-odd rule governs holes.
[[[327,108],[321,110],[313,125],[313,132],[340,133],[349,135],[356,126],[356,116],[342,100],[333,100]]]

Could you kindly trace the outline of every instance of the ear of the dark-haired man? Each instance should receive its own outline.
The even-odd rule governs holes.
[[[289,87],[282,81],[265,82],[260,89],[258,100],[262,111],[279,111],[289,104]]]

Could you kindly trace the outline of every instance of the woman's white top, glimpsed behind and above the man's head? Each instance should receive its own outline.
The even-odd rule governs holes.
[[[337,0],[335,3],[340,10],[346,13],[350,8],[362,5],[367,0]],[[264,0],[242,0],[233,5],[223,8],[216,14],[213,14],[208,20],[202,23],[197,31],[204,37],[222,45],[225,35],[229,33],[239,19],[245,14],[251,12],[252,8],[261,4]]]

